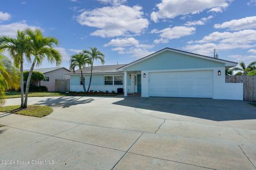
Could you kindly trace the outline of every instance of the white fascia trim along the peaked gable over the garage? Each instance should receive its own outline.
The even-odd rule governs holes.
[[[144,58],[141,58],[141,59],[139,59],[139,60],[137,60],[137,61],[135,61],[135,62],[132,62],[132,63],[130,63],[130,64],[127,64],[127,65],[125,65],[125,66],[123,66],[123,67],[121,67],[121,68],[119,68],[119,69],[117,69],[117,70],[123,70],[123,69],[126,68],[126,67],[129,67],[129,66],[131,66],[131,65],[133,65],[133,64],[140,63],[140,62],[142,62],[142,61],[144,61],[144,60],[147,60],[147,59],[150,58],[150,57],[154,57],[154,56],[156,56],[156,55],[158,55],[158,54],[160,54],[160,53],[166,52],[166,51],[170,51],[170,52],[178,53],[178,54],[184,54],[184,55],[193,56],[193,57],[198,57],[198,58],[203,58],[203,59],[205,59],[205,60],[210,60],[210,61],[214,61],[214,62],[225,63],[226,66],[236,66],[236,65],[237,65],[236,63],[229,62],[229,61],[218,60],[218,59],[216,59],[216,58],[211,58],[211,57],[207,57],[207,56],[201,56],[201,55],[197,55],[197,54],[190,54],[190,53],[186,53],[186,52],[181,52],[181,51],[179,51],[179,50],[174,50],[174,49],[166,48],[166,49],[163,49],[163,50],[159,50],[159,52],[156,52],[156,53],[153,53],[153,54],[151,54],[151,55],[149,55],[149,56],[146,56],[146,57],[144,57]]]

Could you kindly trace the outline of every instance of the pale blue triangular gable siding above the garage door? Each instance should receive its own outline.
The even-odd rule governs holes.
[[[174,52],[163,52],[126,67],[124,71],[196,69],[222,66],[225,66],[225,64]]]

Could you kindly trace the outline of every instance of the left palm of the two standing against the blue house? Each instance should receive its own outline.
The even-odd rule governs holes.
[[[81,71],[81,82],[83,84],[83,88],[84,88],[84,92],[86,92],[85,89],[85,81],[84,81],[84,76],[83,76],[83,67],[86,66],[86,64],[89,64],[90,60],[89,58],[84,55],[84,53],[79,53],[79,54],[75,54],[73,56],[71,56],[70,59],[70,70],[75,72],[75,67],[78,66],[79,70]]]

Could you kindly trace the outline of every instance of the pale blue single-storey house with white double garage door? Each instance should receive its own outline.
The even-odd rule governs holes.
[[[225,70],[237,63],[164,48],[130,64],[94,66],[91,90],[117,91],[124,96],[194,97],[243,100],[243,83],[226,83]],[[88,86],[90,67],[83,69]],[[70,90],[83,91],[79,70],[70,74]]]

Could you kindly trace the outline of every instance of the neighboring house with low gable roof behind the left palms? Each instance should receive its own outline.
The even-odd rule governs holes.
[[[24,70],[24,71],[29,71]],[[40,86],[46,86],[48,91],[55,91],[55,79],[69,79],[68,73],[70,71],[65,67],[53,67],[53,68],[43,68],[34,69],[34,71],[39,71],[44,73],[45,80],[39,82]]]

